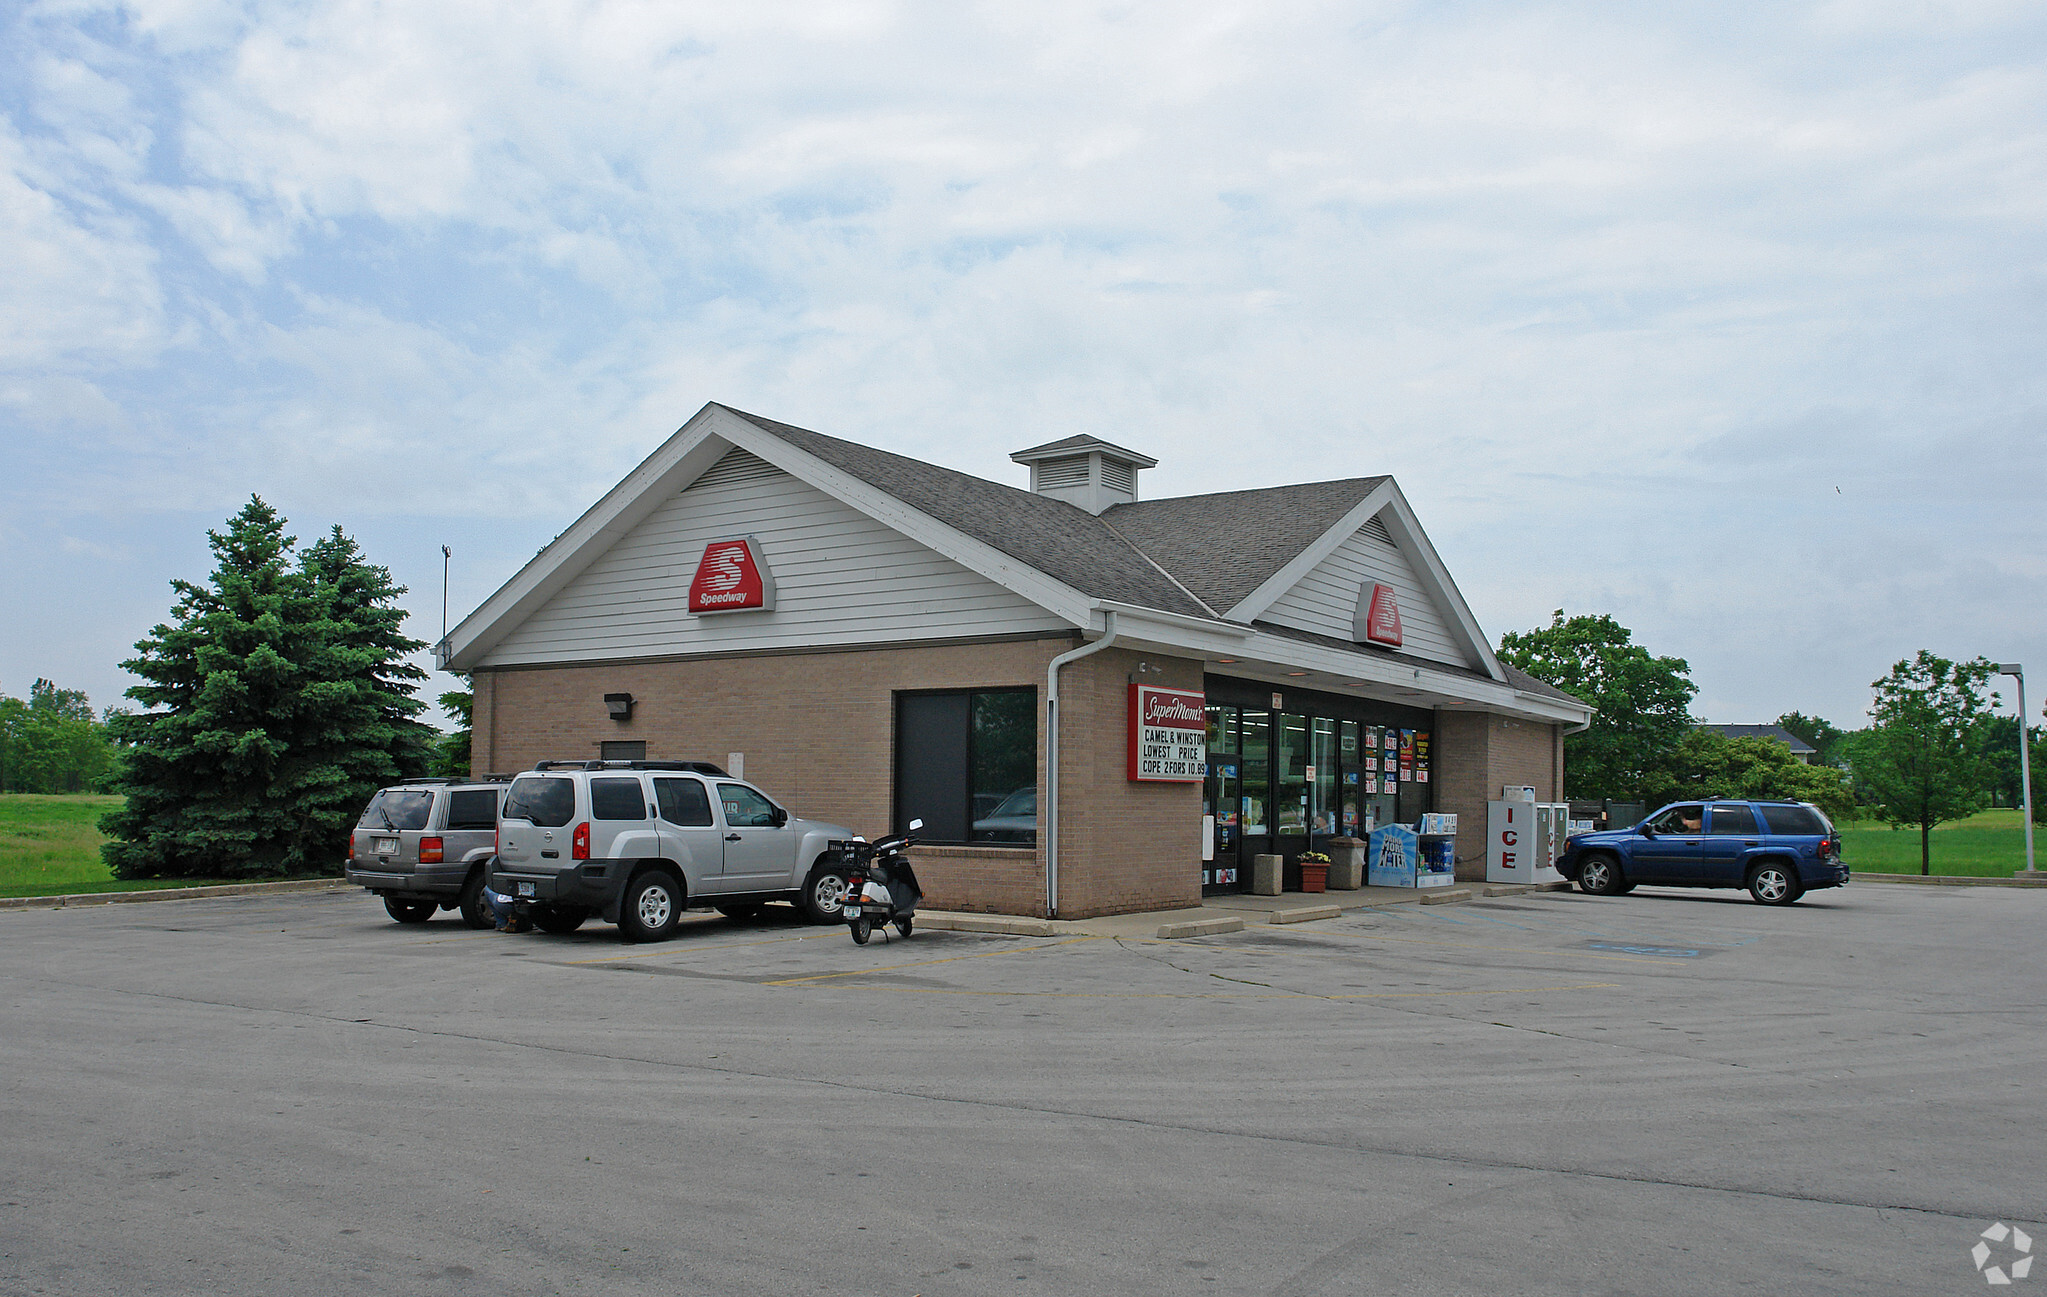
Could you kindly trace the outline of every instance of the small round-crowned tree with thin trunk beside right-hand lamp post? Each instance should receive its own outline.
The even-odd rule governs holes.
[[[1871,683],[1873,724],[1848,747],[1857,792],[1893,829],[1920,831],[1920,874],[1932,874],[1934,826],[1988,800],[1984,694],[1994,671],[1986,659],[1951,663],[1920,648]]]

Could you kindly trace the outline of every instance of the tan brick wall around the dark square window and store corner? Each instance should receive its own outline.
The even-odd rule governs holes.
[[[888,831],[895,804],[899,689],[1034,687],[1042,790],[1044,671],[1071,646],[1062,636],[477,671],[471,761],[477,773],[508,773],[542,759],[592,759],[604,741],[635,739],[651,759],[725,763],[743,753],[745,777],[798,814],[874,837]],[[1200,663],[1118,648],[1060,677],[1060,914],[1069,919],[1200,902],[1200,786],[1124,777],[1126,681],[1138,661],[1165,667],[1146,683],[1202,687]],[[633,694],[633,720],[610,720],[606,694]],[[1044,914],[1040,849],[919,847],[915,859],[931,908]]]

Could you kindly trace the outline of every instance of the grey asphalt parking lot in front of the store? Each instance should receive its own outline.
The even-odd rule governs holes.
[[[2033,892],[778,910],[0,914],[0,1293],[1963,1293],[2047,1238]]]

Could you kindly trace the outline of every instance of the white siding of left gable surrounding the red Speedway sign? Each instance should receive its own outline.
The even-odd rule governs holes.
[[[774,612],[692,616],[704,546],[753,536]],[[485,667],[886,644],[1071,626],[817,487],[729,452],[499,640]]]

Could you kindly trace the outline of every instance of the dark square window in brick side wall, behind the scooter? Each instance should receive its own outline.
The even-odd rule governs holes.
[[[1038,841],[1038,691],[897,696],[897,833],[927,843]]]

